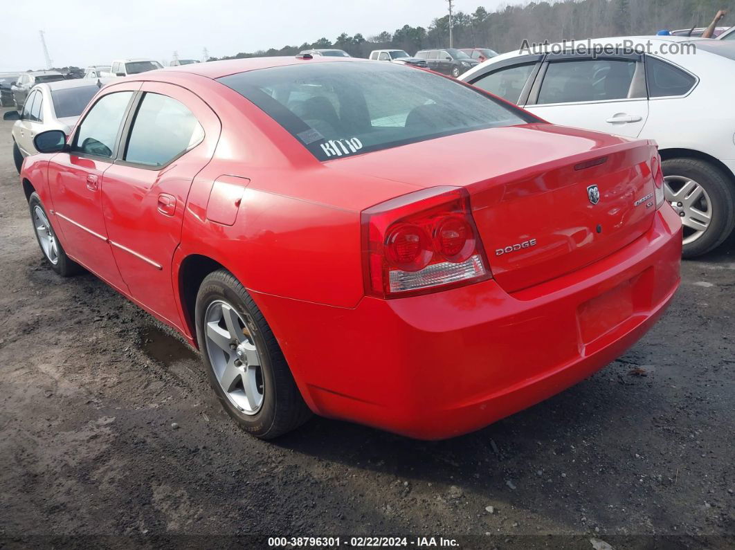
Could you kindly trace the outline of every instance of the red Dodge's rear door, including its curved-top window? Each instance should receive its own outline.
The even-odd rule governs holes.
[[[193,178],[212,159],[221,126],[196,95],[159,82],[143,84],[133,112],[119,158],[104,173],[107,234],[131,296],[182,326],[171,263]]]

